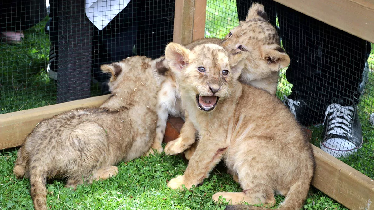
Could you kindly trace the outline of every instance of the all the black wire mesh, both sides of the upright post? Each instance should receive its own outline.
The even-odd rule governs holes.
[[[86,14],[86,3],[94,2],[1,1],[0,114],[106,94],[101,64],[157,58],[172,41],[175,1],[131,0],[107,25],[96,26],[87,16],[107,14],[119,1],[99,0],[105,5],[92,4],[96,12]],[[258,2],[291,58],[277,95],[313,130],[316,146],[373,178],[373,44],[272,0]],[[205,37],[223,38],[250,5],[208,0]]]

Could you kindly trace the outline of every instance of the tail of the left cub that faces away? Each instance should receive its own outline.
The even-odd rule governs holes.
[[[47,210],[46,174],[39,167],[30,170],[30,195],[33,198],[35,210]]]

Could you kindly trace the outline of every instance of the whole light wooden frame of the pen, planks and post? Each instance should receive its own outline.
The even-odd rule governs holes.
[[[374,43],[374,0],[275,0],[329,25]],[[188,44],[204,37],[206,0],[176,0],[173,41]],[[0,115],[0,149],[20,146],[45,118],[78,107],[101,105],[108,95]],[[170,119],[165,140],[178,136],[183,121]],[[312,185],[349,209],[374,210],[374,181],[313,145]]]

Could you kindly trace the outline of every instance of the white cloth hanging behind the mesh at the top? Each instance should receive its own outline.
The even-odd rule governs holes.
[[[100,31],[109,24],[130,0],[86,0],[86,16]]]

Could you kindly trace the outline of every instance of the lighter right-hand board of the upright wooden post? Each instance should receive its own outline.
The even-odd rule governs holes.
[[[192,41],[196,41],[200,38],[204,38],[205,15],[206,15],[206,0],[195,0]]]

